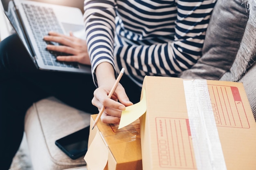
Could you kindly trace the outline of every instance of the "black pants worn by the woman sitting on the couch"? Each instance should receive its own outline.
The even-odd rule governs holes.
[[[141,88],[127,76],[121,84],[133,103],[139,102]],[[98,113],[91,104],[95,86],[92,75],[40,71],[36,69],[16,34],[0,42],[0,167],[8,170],[24,131],[26,110],[45,97],[89,113]]]

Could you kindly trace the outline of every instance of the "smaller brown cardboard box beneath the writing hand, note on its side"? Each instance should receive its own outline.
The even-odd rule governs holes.
[[[91,115],[91,127],[96,117]],[[88,170],[142,170],[139,119],[121,129],[99,120],[90,130],[85,161]]]

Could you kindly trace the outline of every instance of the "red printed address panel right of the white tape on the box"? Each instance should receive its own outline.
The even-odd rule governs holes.
[[[216,126],[249,128],[245,108],[237,87],[208,84]]]

